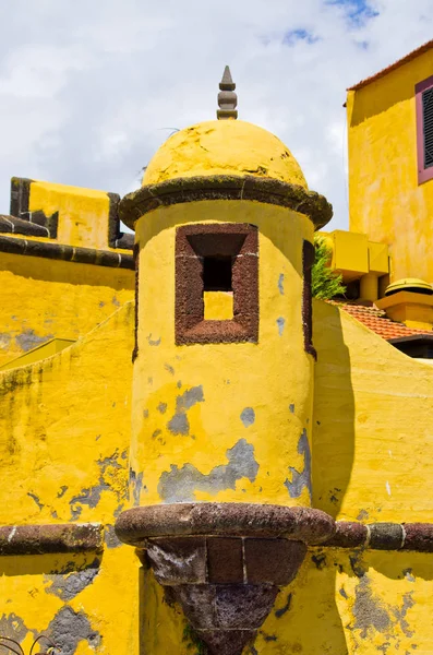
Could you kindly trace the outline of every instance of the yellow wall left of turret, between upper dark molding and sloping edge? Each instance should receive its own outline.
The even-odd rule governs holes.
[[[84,336],[133,286],[129,270],[0,253],[0,366],[53,337]]]

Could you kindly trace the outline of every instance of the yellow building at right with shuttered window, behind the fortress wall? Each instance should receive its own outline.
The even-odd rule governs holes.
[[[432,73],[429,41],[348,90],[349,231],[324,235],[348,297],[373,305],[370,321],[390,319],[378,333],[420,357],[433,326]]]

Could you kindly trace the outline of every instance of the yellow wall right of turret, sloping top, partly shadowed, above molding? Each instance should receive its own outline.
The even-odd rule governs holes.
[[[433,370],[314,302],[313,504],[348,521],[431,522]]]

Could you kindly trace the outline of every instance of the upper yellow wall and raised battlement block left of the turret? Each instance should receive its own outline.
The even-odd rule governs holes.
[[[0,366],[55,337],[76,341],[132,299],[115,205],[104,191],[12,178],[16,216],[0,217],[0,233],[13,228],[0,234]],[[45,236],[27,234],[38,224]]]

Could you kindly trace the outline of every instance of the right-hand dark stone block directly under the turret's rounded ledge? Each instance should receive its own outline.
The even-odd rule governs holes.
[[[302,541],[288,539],[245,539],[246,580],[250,584],[289,584],[306,553]]]

